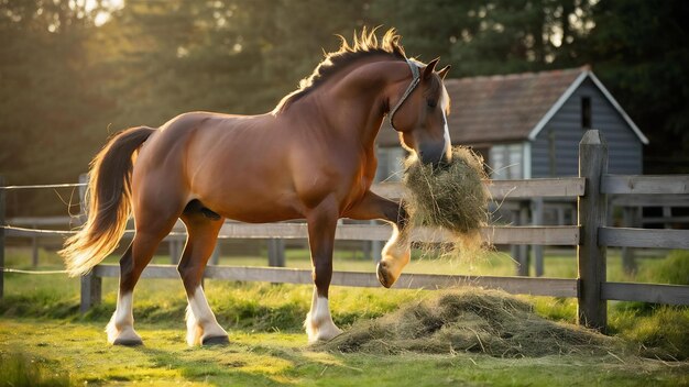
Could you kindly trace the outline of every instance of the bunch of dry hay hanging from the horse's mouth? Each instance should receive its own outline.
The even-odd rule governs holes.
[[[455,147],[451,162],[441,167],[423,164],[415,155],[407,157],[405,206],[413,223],[449,230],[461,250],[475,252],[480,230],[488,224],[486,178],[483,158],[463,146]]]

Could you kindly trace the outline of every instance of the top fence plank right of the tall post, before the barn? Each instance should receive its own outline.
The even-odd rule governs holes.
[[[689,175],[605,175],[601,190],[603,194],[689,194]]]

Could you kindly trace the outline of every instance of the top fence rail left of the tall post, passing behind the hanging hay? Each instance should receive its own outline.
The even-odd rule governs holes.
[[[575,198],[583,195],[586,179],[581,177],[564,178],[538,178],[523,180],[485,180],[493,200],[531,199],[534,197],[562,197]],[[371,188],[375,194],[390,198],[400,199],[405,195],[402,183],[382,183]]]

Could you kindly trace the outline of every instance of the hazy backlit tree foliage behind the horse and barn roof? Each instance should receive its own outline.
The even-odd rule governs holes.
[[[337,48],[335,34],[364,25],[395,26],[408,54],[440,56],[451,77],[591,64],[650,139],[646,170],[689,170],[682,0],[103,3],[0,0],[0,172],[10,184],[75,181],[123,128],[190,110],[269,111]]]

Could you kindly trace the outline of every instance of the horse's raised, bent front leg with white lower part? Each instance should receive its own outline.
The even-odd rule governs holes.
[[[389,288],[397,280],[402,269],[412,256],[408,214],[404,207],[390,199],[367,191],[361,201],[352,207],[346,215],[351,219],[381,219],[393,226],[392,236],[383,247],[381,262],[378,264],[378,280]]]

